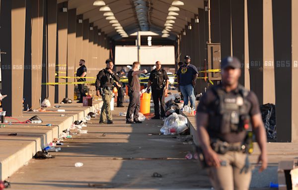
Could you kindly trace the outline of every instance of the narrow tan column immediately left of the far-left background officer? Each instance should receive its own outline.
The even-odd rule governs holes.
[[[76,9],[68,10],[67,35],[67,76],[74,77],[75,68],[75,41],[76,41]],[[74,79],[66,79],[75,82]],[[74,99],[74,85],[67,85],[67,97]]]

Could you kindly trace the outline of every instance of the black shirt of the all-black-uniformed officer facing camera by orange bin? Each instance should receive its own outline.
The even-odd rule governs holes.
[[[151,81],[151,88],[160,90],[164,87],[166,80],[169,80],[169,77],[166,74],[166,71],[162,68],[158,71],[156,69],[152,70],[149,76],[149,81]]]

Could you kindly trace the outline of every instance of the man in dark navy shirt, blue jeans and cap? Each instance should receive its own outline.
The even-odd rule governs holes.
[[[190,99],[190,106],[195,108],[196,97],[194,94],[194,87],[198,78],[198,69],[190,64],[190,56],[184,57],[184,65],[182,65],[177,72],[177,82],[180,91],[183,95],[184,105],[188,105],[188,97]]]

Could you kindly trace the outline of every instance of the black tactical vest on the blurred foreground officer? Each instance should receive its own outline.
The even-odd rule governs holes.
[[[247,99],[249,91],[238,86],[238,93],[227,94],[222,87],[212,87],[216,101],[209,111],[209,127],[218,134],[239,133],[251,126],[249,110],[251,103]]]

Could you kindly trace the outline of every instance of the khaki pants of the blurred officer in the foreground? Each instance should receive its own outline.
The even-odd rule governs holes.
[[[251,180],[251,168],[247,154],[237,151],[228,151],[219,154],[220,160],[226,162],[226,166],[207,169],[212,186],[216,190],[248,190]]]

